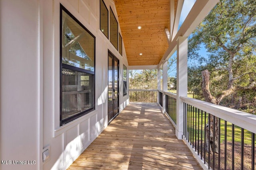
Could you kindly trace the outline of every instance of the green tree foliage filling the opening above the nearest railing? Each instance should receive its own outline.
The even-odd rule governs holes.
[[[212,96],[235,89],[220,104],[234,108],[250,104],[254,107],[250,112],[255,112],[256,88],[251,85],[256,81],[256,1],[220,0],[188,43],[188,58],[198,61],[188,68],[188,89],[201,99],[201,72],[208,69]],[[202,46],[208,56],[198,53]]]

